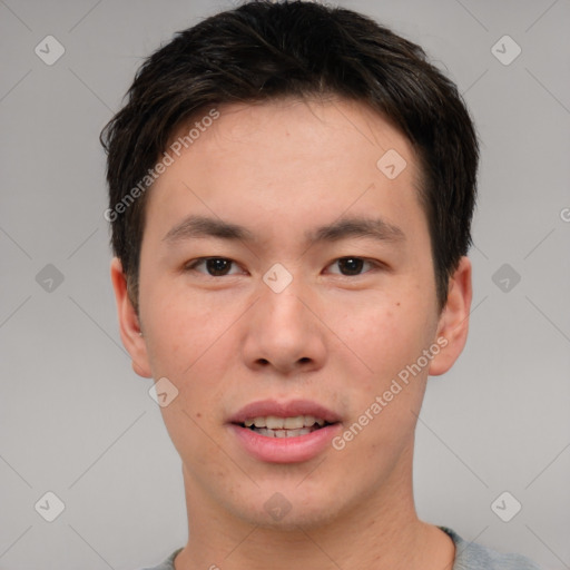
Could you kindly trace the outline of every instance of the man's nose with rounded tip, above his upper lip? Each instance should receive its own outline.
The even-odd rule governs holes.
[[[291,375],[321,368],[326,360],[318,302],[301,277],[281,293],[261,283],[261,296],[248,311],[243,356],[253,370]]]

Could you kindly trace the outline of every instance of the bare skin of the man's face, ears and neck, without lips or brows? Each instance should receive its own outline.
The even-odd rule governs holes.
[[[466,340],[471,264],[461,259],[440,312],[411,145],[342,99],[219,111],[150,190],[138,315],[120,262],[111,263],[135,372],[166,376],[179,391],[160,409],[188,512],[176,570],[451,569],[453,542],[416,515],[412,459],[428,375],[446,372]],[[387,149],[407,163],[392,180],[376,167]],[[165,240],[189,214],[246,226],[257,240]],[[304,242],[341,215],[381,216],[404,238]],[[337,259],[347,256],[381,265],[343,275]],[[220,276],[205,264],[185,271],[199,257],[235,263]],[[275,263],[293,277],[278,294],[263,281]],[[335,411],[346,429],[441,337],[446,346],[342,451],[263,462],[226,424],[249,402],[303,397]],[[264,509],[276,492],[292,505],[281,520]]]

